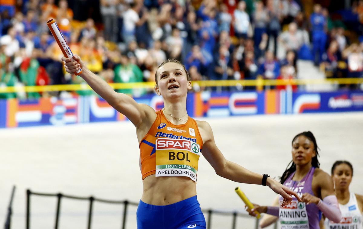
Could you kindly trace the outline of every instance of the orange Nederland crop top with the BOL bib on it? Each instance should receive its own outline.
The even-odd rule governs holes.
[[[156,112],[156,120],[140,142],[142,179],[155,176],[187,176],[196,182],[203,140],[191,117],[183,125],[174,125]]]

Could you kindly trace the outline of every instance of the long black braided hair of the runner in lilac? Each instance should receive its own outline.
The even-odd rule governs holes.
[[[305,136],[306,138],[308,138],[310,141],[312,141],[314,143],[314,150],[315,150],[315,157],[313,157],[311,159],[311,165],[315,168],[319,168],[320,166],[320,163],[318,161],[318,156],[319,156],[319,153],[318,153],[318,145],[317,145],[317,141],[314,137],[314,134],[311,133],[310,131],[305,131],[305,132],[302,132],[302,133],[299,133],[297,134],[294,138],[293,138],[293,141],[291,142],[291,145],[293,144],[293,142],[295,141],[296,138],[300,137],[300,136]],[[290,166],[291,165],[291,166]],[[289,167],[290,166],[290,167]],[[289,167],[289,168],[287,168]],[[287,165],[286,167],[286,170],[285,172],[282,174],[281,176],[281,180],[280,180],[280,183],[281,184],[284,184],[285,180],[293,173],[296,171],[296,165],[295,163],[293,162],[293,160],[290,161],[289,165]]]

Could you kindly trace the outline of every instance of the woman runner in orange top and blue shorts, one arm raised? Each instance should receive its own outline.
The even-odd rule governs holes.
[[[187,114],[186,99],[192,89],[183,64],[168,60],[155,73],[155,92],[163,97],[164,108],[155,112],[130,96],[117,93],[93,74],[78,56],[62,58],[66,71],[82,68],[81,77],[91,88],[136,127],[140,147],[143,193],[136,212],[138,229],[206,228],[196,199],[196,174],[200,154],[216,174],[240,183],[263,184],[282,195],[283,206],[296,192],[268,175],[251,172],[223,157],[217,148],[211,126]],[[202,150],[203,149],[203,150]]]

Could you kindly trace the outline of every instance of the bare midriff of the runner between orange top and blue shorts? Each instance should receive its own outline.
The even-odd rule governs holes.
[[[183,176],[147,176],[143,180],[141,200],[144,203],[164,206],[196,195],[196,183]]]

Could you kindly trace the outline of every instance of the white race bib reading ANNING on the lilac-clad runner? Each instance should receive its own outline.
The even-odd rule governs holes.
[[[280,206],[282,201],[280,201]],[[280,207],[279,220],[281,229],[309,229],[306,205],[292,200],[289,205]]]

